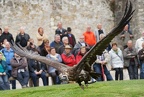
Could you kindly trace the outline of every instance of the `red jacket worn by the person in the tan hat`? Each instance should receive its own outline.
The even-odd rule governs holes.
[[[76,64],[76,60],[73,54],[66,55],[65,53],[61,54],[63,63],[65,63],[68,66],[74,66]]]

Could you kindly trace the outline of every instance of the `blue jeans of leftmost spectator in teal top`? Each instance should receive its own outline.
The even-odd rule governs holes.
[[[1,75],[0,76],[0,90],[9,90],[10,85],[8,82],[8,77],[7,75]]]

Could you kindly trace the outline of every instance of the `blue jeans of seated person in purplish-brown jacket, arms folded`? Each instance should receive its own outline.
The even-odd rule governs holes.
[[[21,86],[24,86],[28,84],[29,81],[29,72],[25,71],[25,72],[20,72],[17,74],[17,80],[19,81],[19,83],[21,84]]]

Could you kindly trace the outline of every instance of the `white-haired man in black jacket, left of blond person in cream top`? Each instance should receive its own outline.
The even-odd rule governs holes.
[[[16,36],[15,43],[20,44],[22,47],[26,47],[29,39],[30,36],[27,33],[25,33],[25,28],[21,27],[20,33]]]

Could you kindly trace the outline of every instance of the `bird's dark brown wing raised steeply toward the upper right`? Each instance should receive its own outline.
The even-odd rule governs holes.
[[[85,56],[82,58],[82,60],[78,63],[76,67],[77,73],[79,73],[84,68],[84,66],[84,69],[87,70],[95,62],[96,55],[101,55],[108,46],[108,44],[111,42],[111,40],[123,31],[125,25],[128,24],[128,22],[132,19],[133,13],[134,10],[132,8],[132,3],[128,0],[125,13],[119,24],[85,54]]]

